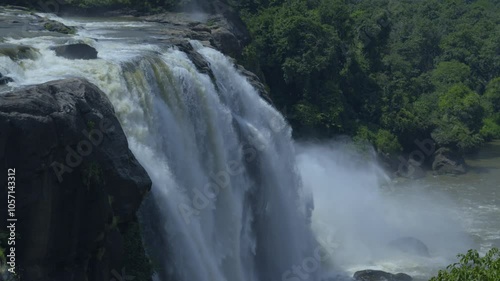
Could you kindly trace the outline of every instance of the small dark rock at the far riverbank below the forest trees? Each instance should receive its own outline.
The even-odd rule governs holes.
[[[438,175],[460,175],[467,172],[467,166],[462,155],[449,148],[442,147],[434,153],[432,170]]]

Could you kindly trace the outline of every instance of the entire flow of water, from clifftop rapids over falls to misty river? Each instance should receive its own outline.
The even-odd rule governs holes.
[[[16,81],[4,90],[83,77],[106,93],[154,182],[141,217],[157,280],[319,281],[367,268],[424,280],[459,251],[499,246],[499,143],[470,159],[467,176],[394,183],[345,145],[294,144],[231,61],[199,42],[214,77],[158,44],[157,24],[62,21],[81,29],[5,38],[39,54],[0,57]],[[50,50],[77,41],[99,59]],[[421,240],[429,256],[388,247],[401,237]]]

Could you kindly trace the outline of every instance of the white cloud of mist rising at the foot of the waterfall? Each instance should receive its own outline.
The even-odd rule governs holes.
[[[397,184],[376,164],[373,150],[346,142],[296,145],[304,188],[314,199],[312,228],[318,241],[332,236],[332,271],[363,269],[429,277],[473,247],[458,206],[442,191],[418,181]],[[429,256],[388,244],[402,237],[422,241]]]

